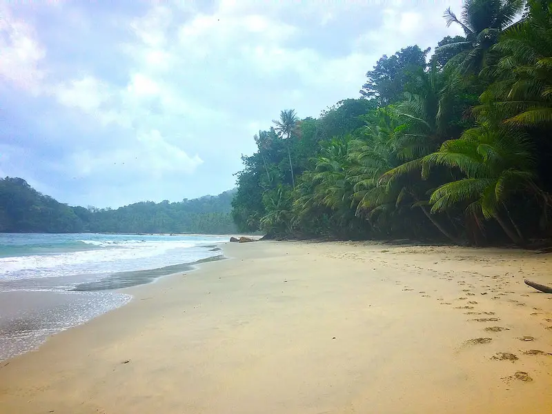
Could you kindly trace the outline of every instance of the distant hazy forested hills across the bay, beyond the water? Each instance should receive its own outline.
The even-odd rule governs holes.
[[[234,191],[176,203],[144,201],[111,208],[70,207],[31,188],[24,179],[0,179],[3,233],[203,233],[229,234]]]

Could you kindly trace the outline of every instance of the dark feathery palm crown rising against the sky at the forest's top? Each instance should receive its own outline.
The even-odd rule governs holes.
[[[457,55],[449,61],[460,72],[479,73],[492,63],[492,46],[524,8],[524,0],[465,0],[460,19],[451,8],[444,12],[446,26],[455,23],[462,27],[465,40],[449,43],[437,50],[453,50]],[[449,65],[447,63],[447,65]]]

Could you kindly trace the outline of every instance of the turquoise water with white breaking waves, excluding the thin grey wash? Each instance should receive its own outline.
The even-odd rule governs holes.
[[[129,272],[219,255],[216,246],[226,240],[204,235],[0,234],[0,291],[72,290],[117,273],[128,278]],[[150,280],[136,278],[136,284],[144,282]]]

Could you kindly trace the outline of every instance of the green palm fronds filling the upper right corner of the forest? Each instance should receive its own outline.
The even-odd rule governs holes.
[[[548,3],[548,4],[546,4]],[[497,77],[476,108],[518,126],[552,124],[552,2],[530,0],[524,21],[505,30],[493,50]]]

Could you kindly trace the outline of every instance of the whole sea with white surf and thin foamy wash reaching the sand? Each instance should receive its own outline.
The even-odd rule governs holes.
[[[0,234],[0,360],[123,306],[118,289],[221,258],[227,236]]]

